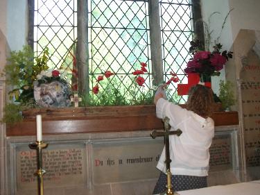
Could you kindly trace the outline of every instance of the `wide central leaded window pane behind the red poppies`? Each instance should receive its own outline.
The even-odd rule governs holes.
[[[150,44],[147,1],[92,0],[89,3],[89,83],[98,86],[90,93],[95,105],[146,103],[153,96],[151,88]],[[91,51],[91,52],[90,52]],[[137,85],[132,72],[148,67]],[[99,81],[105,71],[114,73]],[[143,102],[141,102],[143,101]]]

